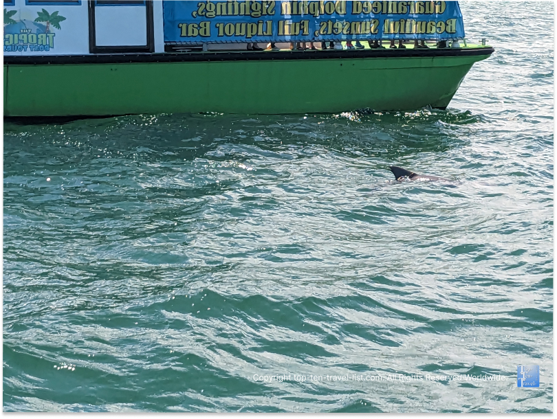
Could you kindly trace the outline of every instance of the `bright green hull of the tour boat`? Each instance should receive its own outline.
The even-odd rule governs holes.
[[[309,54],[319,54],[309,53]],[[4,115],[444,109],[490,52],[295,60],[6,63]]]

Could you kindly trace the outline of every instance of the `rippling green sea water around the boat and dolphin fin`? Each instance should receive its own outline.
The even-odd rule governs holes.
[[[446,111],[6,123],[4,411],[552,411],[553,3],[461,8]]]

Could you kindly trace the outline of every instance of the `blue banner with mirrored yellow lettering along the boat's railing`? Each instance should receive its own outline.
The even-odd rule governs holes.
[[[169,43],[464,37],[457,1],[164,0],[163,5]]]

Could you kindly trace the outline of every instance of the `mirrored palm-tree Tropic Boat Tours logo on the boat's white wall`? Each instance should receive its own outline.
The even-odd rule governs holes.
[[[34,21],[12,19],[17,10],[4,9],[4,52],[39,52],[54,48],[52,27],[61,30],[60,23],[65,21],[58,11],[49,13],[45,9],[37,12]]]

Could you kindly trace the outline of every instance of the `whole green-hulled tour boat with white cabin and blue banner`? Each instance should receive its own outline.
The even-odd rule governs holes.
[[[5,0],[4,116],[446,109],[493,52],[455,1]]]

